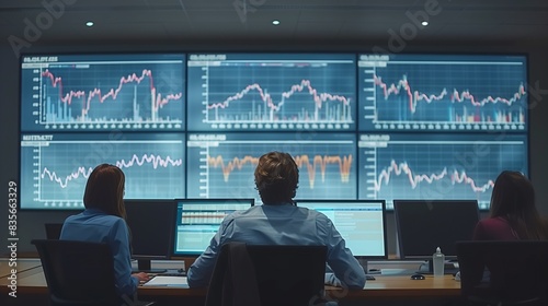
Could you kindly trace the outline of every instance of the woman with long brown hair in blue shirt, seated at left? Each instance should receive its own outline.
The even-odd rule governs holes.
[[[121,296],[133,297],[139,282],[149,278],[142,272],[132,274],[124,185],[125,175],[121,168],[109,164],[96,166],[85,184],[85,210],[65,220],[59,238],[107,243],[114,256],[116,291]]]

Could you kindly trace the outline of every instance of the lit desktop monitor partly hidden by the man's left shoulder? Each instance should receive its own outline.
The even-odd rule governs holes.
[[[228,214],[254,205],[254,199],[178,199],[173,256],[197,257],[209,246]]]

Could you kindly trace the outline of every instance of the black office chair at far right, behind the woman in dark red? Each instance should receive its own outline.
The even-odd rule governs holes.
[[[471,305],[548,305],[548,242],[457,242]]]

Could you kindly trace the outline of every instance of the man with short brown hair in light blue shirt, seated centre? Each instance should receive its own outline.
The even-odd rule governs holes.
[[[283,152],[259,158],[255,187],[263,205],[227,215],[207,249],[190,267],[189,286],[209,284],[220,247],[229,242],[251,245],[322,245],[328,247],[328,264],[333,273],[326,283],[362,290],[365,272],[333,223],[324,214],[299,208],[293,201],[298,188],[298,166]],[[290,278],[290,275],[287,275]]]

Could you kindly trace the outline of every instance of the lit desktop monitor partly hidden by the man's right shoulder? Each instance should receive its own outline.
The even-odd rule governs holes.
[[[367,259],[387,259],[385,200],[297,200],[298,207],[326,214],[364,264]]]

